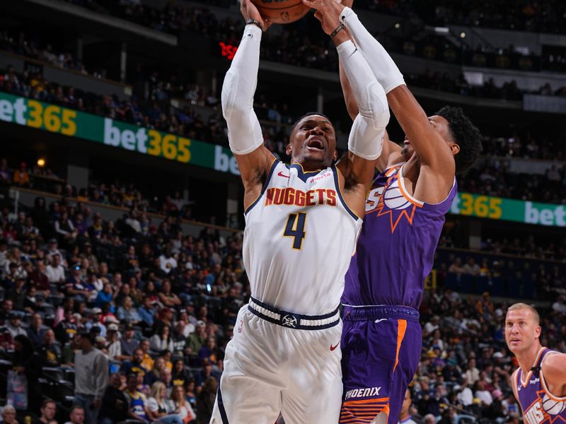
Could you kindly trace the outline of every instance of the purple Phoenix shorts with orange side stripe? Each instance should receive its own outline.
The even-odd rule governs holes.
[[[380,413],[398,423],[422,349],[419,312],[406,306],[345,306],[340,423],[371,423]]]

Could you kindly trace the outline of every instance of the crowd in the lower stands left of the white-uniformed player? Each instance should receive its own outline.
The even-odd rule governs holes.
[[[135,209],[104,221],[83,204],[42,198],[15,217],[3,208],[0,355],[40,382],[28,386],[30,412],[40,415],[42,395],[64,406],[65,387],[77,400],[69,373],[79,374],[71,369],[90,342],[111,375],[100,420],[174,413],[175,423],[208,422],[248,282],[241,235],[204,228],[192,237],[179,223],[169,216],[149,225]],[[120,411],[117,391],[127,399]]]

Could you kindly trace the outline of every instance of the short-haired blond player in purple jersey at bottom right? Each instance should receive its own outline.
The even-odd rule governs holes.
[[[512,387],[527,424],[566,423],[566,354],[541,346],[541,317],[525,303],[507,310],[505,341],[519,362]]]

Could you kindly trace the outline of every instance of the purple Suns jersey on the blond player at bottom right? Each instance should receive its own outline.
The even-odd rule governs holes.
[[[513,389],[526,424],[566,423],[566,397],[559,398],[548,391],[541,368],[546,356],[553,353],[549,348],[541,348],[533,369],[523,375],[519,368],[514,375]]]

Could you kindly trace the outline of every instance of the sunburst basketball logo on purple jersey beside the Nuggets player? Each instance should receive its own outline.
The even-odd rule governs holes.
[[[376,212],[378,217],[389,217],[392,234],[403,217],[412,225],[416,208],[400,186],[398,170],[388,175],[385,186],[371,189],[366,200],[366,214]]]

